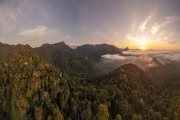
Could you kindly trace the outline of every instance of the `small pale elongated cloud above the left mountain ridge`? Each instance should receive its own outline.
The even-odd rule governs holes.
[[[20,32],[20,35],[26,37],[41,37],[54,32],[56,31],[48,29],[47,26],[37,26],[35,28],[27,29]]]

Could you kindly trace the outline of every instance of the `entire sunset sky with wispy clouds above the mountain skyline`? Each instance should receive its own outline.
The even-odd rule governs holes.
[[[179,0],[0,0],[0,42],[180,50]]]

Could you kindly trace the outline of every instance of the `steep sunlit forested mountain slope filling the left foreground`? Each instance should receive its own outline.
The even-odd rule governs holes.
[[[66,78],[31,48],[13,50],[0,64],[0,119],[63,119]]]

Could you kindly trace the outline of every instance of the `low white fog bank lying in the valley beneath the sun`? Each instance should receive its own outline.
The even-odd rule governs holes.
[[[110,72],[119,66],[127,63],[133,63],[140,68],[146,70],[155,67],[152,59],[157,58],[162,64],[171,62],[180,62],[180,51],[123,51],[120,54],[106,54],[102,56],[102,60],[96,64],[104,73]]]

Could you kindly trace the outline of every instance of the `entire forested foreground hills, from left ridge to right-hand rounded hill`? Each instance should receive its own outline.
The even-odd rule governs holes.
[[[1,49],[2,120],[180,118],[179,63],[146,72],[126,64],[98,75],[92,63],[64,43],[35,49],[1,44]]]

